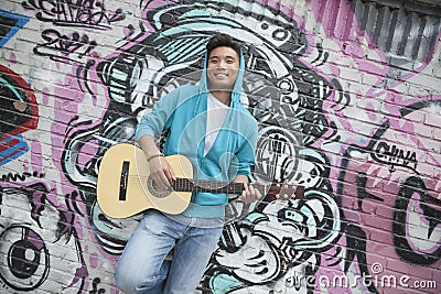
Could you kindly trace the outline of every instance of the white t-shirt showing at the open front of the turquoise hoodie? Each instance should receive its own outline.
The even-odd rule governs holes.
[[[219,130],[224,124],[225,118],[227,117],[228,109],[228,106],[217,100],[217,98],[214,97],[211,92],[208,94],[204,156],[213,146],[214,141],[216,141],[217,134],[219,133]]]

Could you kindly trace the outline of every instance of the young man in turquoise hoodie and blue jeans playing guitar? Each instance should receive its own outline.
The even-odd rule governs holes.
[[[250,203],[261,197],[248,184],[257,122],[239,102],[245,68],[240,45],[217,34],[206,50],[198,85],[181,86],[159,100],[136,135],[158,186],[166,188],[175,179],[154,140],[168,130],[164,155],[189,157],[197,179],[244,183],[239,199]],[[118,262],[118,287],[127,294],[194,293],[220,237],[227,203],[226,194],[200,192],[181,215],[148,210]]]

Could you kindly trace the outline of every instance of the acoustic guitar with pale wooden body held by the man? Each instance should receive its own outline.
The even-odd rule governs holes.
[[[166,214],[181,214],[193,192],[241,194],[243,183],[224,183],[193,178],[191,161],[180,154],[165,156],[176,179],[170,188],[161,189],[149,174],[149,162],[142,150],[133,144],[120,143],[104,154],[98,172],[97,203],[110,218],[128,218],[147,209]],[[302,198],[303,186],[271,184],[256,185],[262,198]]]

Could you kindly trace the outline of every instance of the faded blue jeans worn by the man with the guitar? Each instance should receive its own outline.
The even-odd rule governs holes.
[[[118,287],[126,294],[194,293],[222,229],[218,219],[147,211],[118,261]],[[173,259],[165,260],[172,249]]]

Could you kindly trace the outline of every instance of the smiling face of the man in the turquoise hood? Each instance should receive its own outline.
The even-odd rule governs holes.
[[[239,69],[239,55],[230,47],[216,47],[209,53],[207,69],[211,90],[230,91]]]

